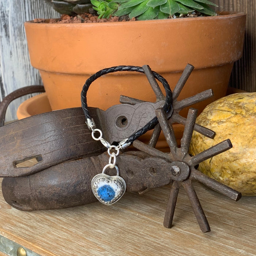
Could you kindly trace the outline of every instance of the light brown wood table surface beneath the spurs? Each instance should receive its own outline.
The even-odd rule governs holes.
[[[16,210],[0,195],[0,235],[39,255],[256,255],[256,197],[234,202],[194,185],[209,233],[201,232],[183,188],[173,227],[163,227],[169,185],[143,195],[125,193],[111,206],[32,212]]]

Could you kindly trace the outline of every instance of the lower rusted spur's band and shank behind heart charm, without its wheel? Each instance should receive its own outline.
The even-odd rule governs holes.
[[[91,191],[91,179],[102,171],[108,158],[103,153],[59,163],[23,177],[5,177],[2,182],[4,199],[23,211],[60,209],[97,202]],[[119,155],[118,166],[128,192],[162,187],[171,182],[170,163],[143,152],[128,151]],[[109,174],[114,173],[110,170]]]

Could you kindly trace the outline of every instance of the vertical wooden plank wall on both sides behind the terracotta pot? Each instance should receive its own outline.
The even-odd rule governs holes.
[[[243,57],[234,65],[230,85],[256,91],[256,0],[215,0],[215,3],[219,5],[217,10],[243,11],[248,15]],[[20,87],[42,84],[38,71],[29,62],[23,23],[38,17],[58,16],[42,0],[0,0],[0,101]],[[28,97],[11,104],[7,121],[16,119],[16,109]]]

